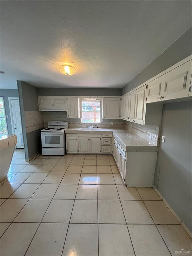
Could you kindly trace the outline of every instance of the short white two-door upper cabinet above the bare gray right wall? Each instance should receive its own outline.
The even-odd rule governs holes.
[[[148,83],[147,103],[189,96],[191,61]]]

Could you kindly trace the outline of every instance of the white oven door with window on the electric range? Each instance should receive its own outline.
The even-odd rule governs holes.
[[[42,148],[64,148],[63,132],[41,132]]]

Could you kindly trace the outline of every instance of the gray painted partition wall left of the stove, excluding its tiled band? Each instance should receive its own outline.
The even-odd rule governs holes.
[[[41,151],[41,129],[26,133],[25,111],[39,111],[38,92],[35,86],[23,81],[17,81],[17,87],[19,92],[25,159],[30,160]]]

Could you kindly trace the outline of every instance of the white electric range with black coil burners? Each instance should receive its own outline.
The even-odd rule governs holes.
[[[42,155],[65,155],[65,130],[68,122],[49,121],[41,130]]]

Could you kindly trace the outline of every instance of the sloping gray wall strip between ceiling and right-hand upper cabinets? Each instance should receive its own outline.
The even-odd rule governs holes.
[[[122,95],[189,55],[191,55],[191,28],[125,85],[121,91]]]

